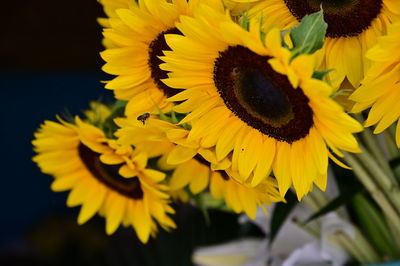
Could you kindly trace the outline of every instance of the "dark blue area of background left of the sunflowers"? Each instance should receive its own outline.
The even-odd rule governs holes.
[[[45,215],[65,208],[65,195],[49,190],[51,177],[32,162],[33,133],[46,119],[68,110],[78,114],[90,100],[111,98],[101,72],[42,73],[6,71],[0,75],[2,97],[2,186],[0,244],[22,234]]]

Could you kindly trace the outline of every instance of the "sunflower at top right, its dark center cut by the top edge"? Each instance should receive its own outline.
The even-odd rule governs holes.
[[[230,0],[232,2],[246,2]],[[335,87],[347,78],[357,88],[370,61],[364,55],[386,33],[387,26],[400,18],[400,0],[256,0],[250,15],[262,13],[276,26],[289,28],[320,10],[328,24],[325,38],[325,69]]]

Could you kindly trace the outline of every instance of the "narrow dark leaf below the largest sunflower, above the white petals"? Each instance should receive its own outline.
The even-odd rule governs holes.
[[[278,235],[279,230],[286,221],[286,218],[292,212],[293,208],[297,205],[297,197],[290,190],[286,194],[286,203],[279,202],[275,204],[275,207],[271,214],[271,224],[270,224],[270,238],[269,243],[272,243],[275,237]]]

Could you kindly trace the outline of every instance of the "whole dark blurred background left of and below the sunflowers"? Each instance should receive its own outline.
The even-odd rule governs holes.
[[[99,52],[104,16],[96,0],[4,1],[0,22],[2,102],[0,265],[191,265],[197,246],[260,235],[237,216],[177,206],[178,230],[141,245],[131,229],[104,233],[96,217],[79,227],[67,193],[31,161],[33,133],[56,114],[79,114],[91,100],[110,101]],[[5,93],[5,94],[4,94]]]

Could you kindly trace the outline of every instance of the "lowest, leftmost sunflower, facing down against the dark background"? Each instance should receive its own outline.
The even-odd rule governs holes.
[[[32,143],[38,153],[33,160],[54,176],[52,190],[70,190],[67,206],[82,205],[79,224],[99,213],[107,234],[120,224],[132,226],[143,243],[157,232],[156,222],[175,227],[166,188],[159,184],[165,174],[146,168],[144,153],[107,139],[78,117],[75,124],[45,121]]]

